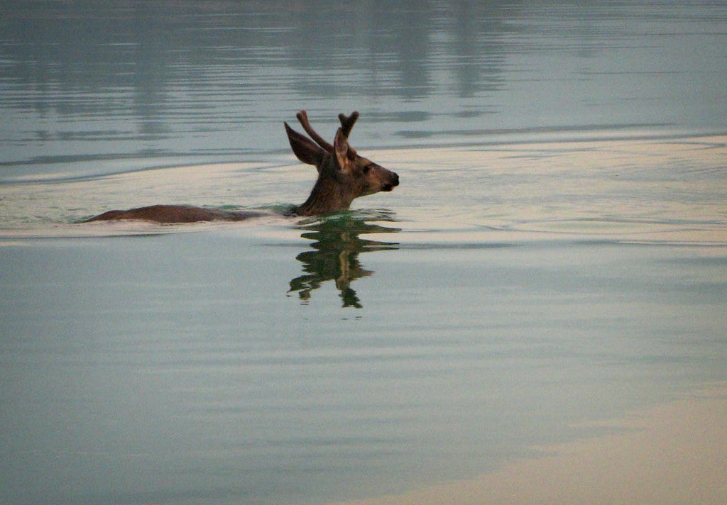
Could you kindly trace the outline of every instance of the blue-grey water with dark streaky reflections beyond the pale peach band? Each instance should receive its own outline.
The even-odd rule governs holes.
[[[725,20],[710,1],[5,1],[0,177],[269,153],[300,108],[365,110],[377,145],[721,129]]]

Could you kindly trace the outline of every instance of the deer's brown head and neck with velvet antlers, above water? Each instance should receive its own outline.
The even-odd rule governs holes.
[[[296,209],[300,216],[314,216],[348,209],[354,198],[391,191],[399,184],[399,176],[358,155],[348,145],[348,136],[358,119],[358,112],[350,116],[339,114],[341,127],[333,145],[329,144],[310,126],[305,110],[297,113],[298,121],[310,139],[285,123],[290,147],[303,163],[316,166],[318,180],[308,200]],[[311,140],[313,139],[313,140]]]

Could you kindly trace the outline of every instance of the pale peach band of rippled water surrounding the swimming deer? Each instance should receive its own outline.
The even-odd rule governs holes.
[[[373,154],[405,173],[407,187],[395,200],[366,201],[394,209],[405,233],[402,240],[415,243],[564,239],[727,244],[726,145],[727,137],[712,136],[381,150]],[[130,201],[272,210],[276,220],[292,203],[275,202],[294,201],[307,185],[310,174],[301,173],[299,166],[272,163],[6,184],[0,233],[95,234],[100,227],[92,231],[91,225],[78,223],[92,217],[93,209],[123,208]],[[252,206],[236,205],[242,199]],[[253,221],[262,226],[270,222]],[[115,233],[149,228],[126,225]],[[182,229],[204,227],[164,231]]]

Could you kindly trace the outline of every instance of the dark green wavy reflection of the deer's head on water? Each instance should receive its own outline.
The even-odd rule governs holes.
[[[393,220],[381,215],[376,219]],[[340,291],[342,307],[363,307],[358,294],[350,285],[354,280],[371,275],[373,272],[361,266],[358,254],[398,249],[398,243],[366,240],[359,235],[396,233],[400,230],[366,222],[365,218],[356,217],[349,212],[329,216],[302,228],[305,232],[301,236],[313,241],[311,244],[313,250],[296,256],[295,259],[302,262],[305,273],[290,281],[288,292],[297,292],[302,303],[306,304],[313,291],[320,288],[322,283],[334,280]]]

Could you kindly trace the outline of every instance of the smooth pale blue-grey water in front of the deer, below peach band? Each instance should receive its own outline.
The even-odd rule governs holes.
[[[401,492],[726,376],[724,246],[401,231],[358,265],[357,309],[327,266],[307,304],[286,296],[296,257],[332,256],[251,230],[2,247],[4,501]]]

